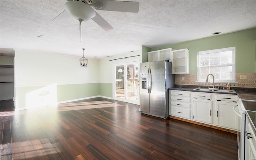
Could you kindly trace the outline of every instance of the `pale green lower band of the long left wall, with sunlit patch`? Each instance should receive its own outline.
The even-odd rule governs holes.
[[[58,102],[100,95],[99,83],[17,87],[16,109],[28,109]]]

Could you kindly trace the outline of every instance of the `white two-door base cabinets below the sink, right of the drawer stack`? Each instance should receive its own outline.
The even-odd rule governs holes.
[[[193,121],[237,131],[238,116],[233,106],[238,96],[194,92],[192,98]]]

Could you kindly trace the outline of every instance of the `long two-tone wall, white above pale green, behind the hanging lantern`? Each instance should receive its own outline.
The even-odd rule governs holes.
[[[100,95],[99,60],[16,49],[14,68],[16,110]]]

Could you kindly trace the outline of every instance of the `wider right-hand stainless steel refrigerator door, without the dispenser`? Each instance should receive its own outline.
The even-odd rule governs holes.
[[[150,62],[150,114],[166,117],[165,61]],[[168,116],[168,115],[167,115]]]

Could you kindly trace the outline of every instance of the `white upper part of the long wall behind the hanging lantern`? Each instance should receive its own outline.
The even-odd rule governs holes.
[[[15,50],[15,86],[99,82],[99,60],[81,67],[80,57]]]

